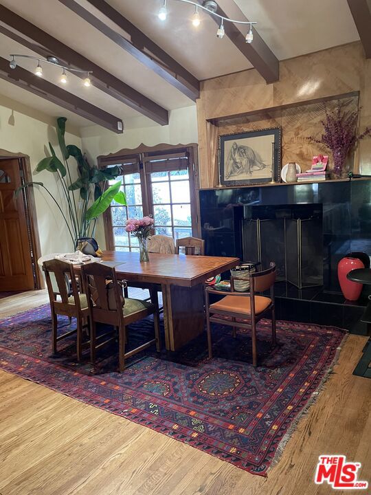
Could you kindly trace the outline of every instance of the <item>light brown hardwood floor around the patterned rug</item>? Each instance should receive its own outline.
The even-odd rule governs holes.
[[[0,318],[46,301],[45,291],[2,299]],[[371,380],[352,375],[366,340],[348,337],[333,375],[267,478],[0,371],[0,494],[335,493],[313,482],[319,454],[361,462],[359,479],[370,483]]]

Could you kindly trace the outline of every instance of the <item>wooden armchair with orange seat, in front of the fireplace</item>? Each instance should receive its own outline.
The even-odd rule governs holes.
[[[210,323],[219,323],[233,327],[233,336],[236,337],[236,327],[251,327],[252,340],[252,357],[253,366],[258,364],[258,354],[256,347],[256,323],[271,313],[272,344],[276,345],[276,312],[274,305],[274,283],[276,281],[276,264],[271,262],[267,270],[250,274],[249,292],[237,292],[234,288],[234,281],[238,276],[231,276],[231,292],[228,296],[218,300],[217,303],[210,305],[210,294],[221,296],[221,291],[205,287],[205,308],[206,308],[206,326],[207,326],[207,347],[209,349],[209,358],[212,358],[212,333]],[[257,292],[270,290],[270,297],[258,296]],[[231,319],[226,320],[223,316],[229,316]],[[249,320],[249,322],[238,322]]]

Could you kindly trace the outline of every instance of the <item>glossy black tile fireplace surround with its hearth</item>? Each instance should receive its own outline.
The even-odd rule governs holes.
[[[280,281],[276,283],[278,318],[366,333],[366,325],[361,325],[359,318],[368,303],[371,287],[363,287],[361,298],[354,303],[344,300],[337,281],[337,263],[348,252],[371,254],[370,180],[204,189],[199,194],[205,254],[238,256],[243,261],[260,257],[263,266],[267,256],[272,261],[276,261],[273,256],[277,257],[281,266]],[[305,287],[304,284],[300,289],[297,278],[291,272],[288,276],[287,267],[283,269],[282,259],[289,263],[297,261],[297,242],[292,240],[295,236],[286,239],[286,258],[282,258],[283,218],[293,223],[294,234],[298,218],[303,220],[303,226],[310,220],[307,239],[303,238],[302,265],[307,276],[311,267],[317,266],[316,281],[320,285]],[[260,239],[259,253],[254,233],[257,219],[268,220],[264,225],[271,228]],[[267,241],[269,235],[273,237],[271,243]]]

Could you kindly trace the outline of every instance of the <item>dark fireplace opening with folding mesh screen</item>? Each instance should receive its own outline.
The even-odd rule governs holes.
[[[323,285],[322,205],[245,206],[243,259],[267,267],[302,289]]]

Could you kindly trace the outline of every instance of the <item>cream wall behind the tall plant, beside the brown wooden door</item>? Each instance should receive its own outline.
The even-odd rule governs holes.
[[[61,194],[56,176],[47,171],[37,173],[35,170],[38,162],[46,156],[45,146],[48,141],[57,153],[59,151],[55,124],[54,118],[0,95],[0,149],[28,155],[34,181],[43,182],[65,210],[63,193]],[[68,122],[67,129],[70,131],[66,133],[67,144],[81,146],[78,131],[71,129]],[[37,186],[34,188],[34,196],[41,254],[71,251],[73,246],[56,205],[47,197],[45,190]]]

